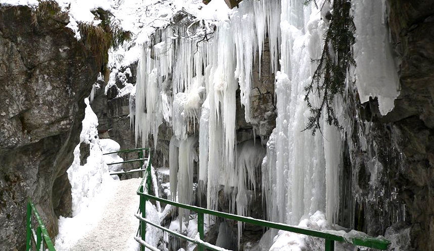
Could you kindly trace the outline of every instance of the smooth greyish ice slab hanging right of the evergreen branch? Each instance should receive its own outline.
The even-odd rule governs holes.
[[[386,115],[394,108],[394,101],[399,95],[398,72],[386,26],[386,3],[365,0],[354,0],[352,3],[356,25],[355,73],[360,102],[377,97],[380,113]]]

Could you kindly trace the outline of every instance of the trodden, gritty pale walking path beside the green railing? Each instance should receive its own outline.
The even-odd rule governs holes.
[[[139,227],[139,220],[134,214],[139,207],[139,195],[136,194],[136,190],[140,181],[141,179],[119,181],[98,225],[69,250],[136,250],[138,245],[134,236]]]

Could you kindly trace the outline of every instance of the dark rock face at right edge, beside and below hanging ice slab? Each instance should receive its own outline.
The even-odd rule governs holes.
[[[376,99],[362,105],[356,100],[350,106],[358,122],[347,135],[349,165],[343,177],[345,186],[352,187],[346,197],[356,197],[356,202],[343,202],[342,210],[353,212],[343,214],[352,227],[370,235],[385,233],[399,250],[430,250],[434,246],[434,3],[388,1],[388,5],[401,93],[386,116],[379,114]]]

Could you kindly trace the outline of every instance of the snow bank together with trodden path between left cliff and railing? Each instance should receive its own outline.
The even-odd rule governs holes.
[[[115,181],[106,163],[122,161],[111,139],[98,138],[98,118],[85,98],[80,143],[89,144],[90,156],[80,165],[80,143],[74,149],[74,161],[67,170],[71,183],[72,218],[60,217],[57,250],[138,250],[134,236],[139,205],[136,194],[140,179]],[[151,207],[148,207],[151,208]],[[152,214],[151,214],[152,215]],[[122,220],[119,220],[122,219]]]

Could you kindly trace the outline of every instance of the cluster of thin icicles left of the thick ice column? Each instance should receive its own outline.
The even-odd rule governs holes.
[[[237,149],[235,93],[240,86],[245,119],[250,121],[253,59],[262,57],[267,33],[271,37],[271,67],[273,71],[277,69],[279,6],[277,0],[245,1],[227,20],[159,29],[153,42],[143,44],[136,91],[132,94],[135,103],[131,105],[136,140],[141,137],[142,144],[147,145],[148,136],[152,135],[156,145],[163,119],[172,126],[172,199],[192,203],[193,166],[194,161],[200,160],[199,190],[206,193],[207,207],[218,209],[223,185],[226,192],[233,193],[232,211],[235,212],[237,199],[237,212],[247,212],[247,186],[256,184],[255,177],[259,175],[255,168],[261,166],[266,150],[253,141],[244,143],[245,149]],[[212,33],[212,38],[198,43],[201,38],[191,35],[191,27]],[[199,137],[189,137],[188,129],[197,123]]]

